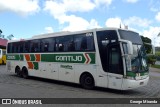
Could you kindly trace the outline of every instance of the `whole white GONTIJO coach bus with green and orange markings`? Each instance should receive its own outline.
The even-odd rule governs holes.
[[[118,28],[50,33],[7,45],[7,71],[81,84],[86,89],[145,86],[149,69],[138,33]]]

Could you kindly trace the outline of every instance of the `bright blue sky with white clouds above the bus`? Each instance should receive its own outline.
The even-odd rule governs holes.
[[[160,0],[0,0],[0,29],[13,39],[120,25],[160,46]]]

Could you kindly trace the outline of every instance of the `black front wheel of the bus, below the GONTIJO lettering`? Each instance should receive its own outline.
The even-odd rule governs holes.
[[[83,74],[80,79],[80,84],[85,89],[93,89],[95,86],[94,79],[90,74]]]

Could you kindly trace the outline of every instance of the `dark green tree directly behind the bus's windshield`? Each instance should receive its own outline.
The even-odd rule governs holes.
[[[151,53],[152,51],[152,46],[151,45],[148,45],[148,44],[151,44],[151,39],[147,38],[147,37],[144,37],[144,36],[141,36],[142,38],[142,41],[143,41],[143,44],[145,46],[145,49],[146,49],[146,53],[149,54]]]

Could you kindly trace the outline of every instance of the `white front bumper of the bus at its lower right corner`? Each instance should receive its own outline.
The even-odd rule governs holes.
[[[122,90],[134,89],[142,86],[146,86],[149,81],[149,76],[142,80],[123,79]]]

